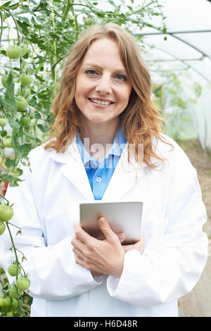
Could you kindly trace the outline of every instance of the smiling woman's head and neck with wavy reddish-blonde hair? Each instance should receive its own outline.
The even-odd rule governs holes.
[[[106,101],[111,104],[102,105]],[[139,144],[143,145],[141,162],[156,168],[152,156],[154,161],[164,161],[151,141],[154,136],[170,144],[160,135],[164,126],[160,110],[151,101],[150,74],[134,37],[118,25],[92,25],[72,47],[53,112],[56,121],[51,132],[53,136],[56,132],[56,141],[45,149],[65,151],[77,132],[81,139],[89,137],[90,144],[104,146],[105,141],[113,142],[120,124],[124,137],[134,144],[136,161]],[[91,124],[89,116],[98,125]]]

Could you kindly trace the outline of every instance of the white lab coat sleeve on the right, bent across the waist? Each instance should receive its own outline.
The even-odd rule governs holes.
[[[202,230],[207,214],[196,169],[184,152],[174,160],[165,217],[168,226],[158,246],[143,254],[128,251],[121,277],[108,277],[110,296],[156,306],[186,295],[198,282],[207,261],[208,239]]]

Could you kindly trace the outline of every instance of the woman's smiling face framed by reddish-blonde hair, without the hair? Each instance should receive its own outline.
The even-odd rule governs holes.
[[[75,102],[82,123],[116,123],[127,107],[131,89],[117,43],[108,38],[96,40],[76,77]]]

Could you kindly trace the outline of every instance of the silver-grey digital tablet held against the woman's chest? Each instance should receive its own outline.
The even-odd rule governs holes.
[[[141,201],[83,201],[79,204],[80,225],[92,237],[105,239],[98,226],[98,219],[105,216],[113,232],[124,232],[122,245],[134,244],[141,236],[142,210]]]

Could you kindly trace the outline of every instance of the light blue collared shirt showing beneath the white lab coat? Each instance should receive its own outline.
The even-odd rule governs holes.
[[[89,155],[87,150],[84,148],[84,144],[82,143],[79,135],[77,135],[77,146],[79,153],[82,156],[82,162],[84,163],[84,167],[87,171],[87,176],[89,178],[89,183],[95,200],[101,200],[103,194],[106,192],[110,178],[113,175],[126,144],[127,140],[124,138],[121,127],[119,127],[112,146],[103,158],[103,161],[99,163],[98,160]],[[96,149],[98,148],[99,146],[96,144]]]

